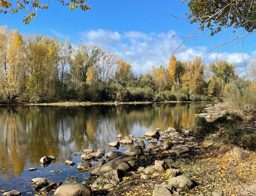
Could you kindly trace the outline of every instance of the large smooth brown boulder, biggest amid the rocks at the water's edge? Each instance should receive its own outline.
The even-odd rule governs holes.
[[[102,175],[112,170],[122,170],[124,173],[126,173],[128,170],[133,168],[134,165],[135,158],[133,156],[123,155],[102,165],[99,168],[99,172]]]

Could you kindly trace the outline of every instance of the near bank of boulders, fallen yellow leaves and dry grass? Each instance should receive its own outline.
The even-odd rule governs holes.
[[[237,135],[233,141],[233,134],[223,129],[224,124],[234,125],[238,119],[226,114],[213,122],[201,120],[195,130],[156,129],[137,138],[119,134],[109,146],[128,147],[124,153],[86,149],[80,163],[64,163],[79,171],[89,171],[90,178],[83,182],[77,182],[76,177],[62,182],[32,179],[33,189],[38,195],[56,196],[255,194],[256,152],[239,147],[243,143],[237,141]],[[230,137],[225,139],[227,134]],[[42,157],[40,162],[46,166],[53,159]],[[94,168],[92,161],[98,162]]]

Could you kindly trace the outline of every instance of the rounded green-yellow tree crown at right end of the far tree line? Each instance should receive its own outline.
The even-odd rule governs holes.
[[[227,61],[210,63],[209,71],[211,71],[216,78],[226,84],[236,78],[236,66],[228,63]]]

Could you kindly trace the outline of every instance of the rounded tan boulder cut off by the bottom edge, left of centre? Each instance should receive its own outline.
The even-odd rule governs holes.
[[[57,188],[54,196],[91,196],[91,190],[78,182],[65,183]]]

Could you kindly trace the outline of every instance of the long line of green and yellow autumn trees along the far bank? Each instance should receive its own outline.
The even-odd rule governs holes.
[[[175,56],[137,75],[130,62],[96,45],[0,27],[1,102],[210,100],[237,77],[226,61],[206,66],[201,57],[181,62]]]

